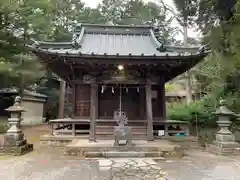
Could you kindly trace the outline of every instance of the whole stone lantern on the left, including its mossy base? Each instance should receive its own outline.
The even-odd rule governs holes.
[[[3,146],[0,147],[0,155],[22,155],[33,150],[33,145],[28,144],[24,139],[24,134],[20,129],[20,123],[22,120],[22,112],[24,108],[21,106],[21,97],[15,98],[14,105],[6,109],[11,114],[11,118],[8,119],[10,128],[4,136]]]

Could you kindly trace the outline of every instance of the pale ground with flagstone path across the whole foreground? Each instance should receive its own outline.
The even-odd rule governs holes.
[[[240,157],[189,151],[179,160],[80,159],[59,148],[0,160],[0,180],[240,180]]]

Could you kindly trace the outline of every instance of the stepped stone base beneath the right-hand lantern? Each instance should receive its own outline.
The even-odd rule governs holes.
[[[237,142],[218,142],[207,145],[206,149],[219,155],[240,155],[240,144]]]

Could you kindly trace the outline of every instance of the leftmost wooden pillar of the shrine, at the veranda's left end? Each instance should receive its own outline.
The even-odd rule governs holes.
[[[65,104],[65,92],[66,92],[66,82],[64,80],[60,80],[60,98],[59,98],[59,110],[58,110],[58,118],[64,118],[64,104]]]

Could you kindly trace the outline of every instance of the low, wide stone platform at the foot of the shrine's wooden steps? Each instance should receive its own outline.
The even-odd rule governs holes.
[[[162,143],[161,143],[162,142]],[[183,150],[179,145],[164,140],[154,142],[133,141],[132,147],[114,147],[114,141],[102,140],[89,143],[87,140],[74,140],[67,145],[65,155],[87,158],[122,158],[122,157],[175,157],[181,158]]]

